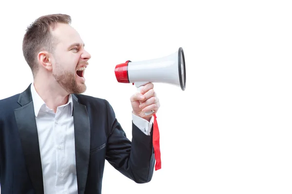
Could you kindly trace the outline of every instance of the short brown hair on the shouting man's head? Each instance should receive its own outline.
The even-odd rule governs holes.
[[[55,40],[50,33],[50,27],[54,29],[57,23],[71,24],[71,17],[65,14],[41,16],[26,29],[22,42],[22,52],[34,76],[38,70],[37,53],[41,50],[52,53],[54,50]]]

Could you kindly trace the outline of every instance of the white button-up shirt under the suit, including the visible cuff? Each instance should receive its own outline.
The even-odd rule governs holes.
[[[44,194],[77,194],[75,143],[72,95],[56,113],[37,94],[31,85],[34,103],[39,151],[42,165]],[[133,123],[146,135],[150,134],[150,122],[132,114]]]

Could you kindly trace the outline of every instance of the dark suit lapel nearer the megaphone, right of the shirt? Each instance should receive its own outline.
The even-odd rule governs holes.
[[[90,156],[90,121],[86,106],[72,97],[78,194],[84,194]]]

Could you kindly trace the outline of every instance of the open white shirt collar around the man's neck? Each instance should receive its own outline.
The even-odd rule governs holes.
[[[31,93],[32,93],[32,99],[33,99],[33,103],[34,103],[35,115],[37,117],[37,115],[38,115],[39,110],[41,109],[41,107],[42,106],[46,106],[46,104],[41,99],[41,97],[38,95],[34,83],[31,84]],[[72,94],[69,94],[68,102],[65,105],[63,105],[63,106],[67,106],[67,105],[70,105],[70,107],[71,107],[71,115],[72,115],[73,114]]]

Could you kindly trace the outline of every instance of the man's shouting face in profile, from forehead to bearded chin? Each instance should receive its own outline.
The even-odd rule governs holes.
[[[69,93],[85,92],[84,71],[91,55],[84,50],[80,35],[70,25],[60,23],[52,35],[57,40],[52,60],[55,80]]]

